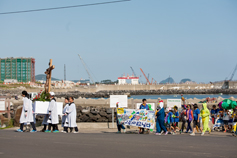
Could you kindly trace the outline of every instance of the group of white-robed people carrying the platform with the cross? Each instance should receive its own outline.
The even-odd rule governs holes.
[[[57,102],[55,99],[55,93],[49,92],[50,94],[50,102],[48,107],[48,114],[44,114],[44,120],[42,122],[42,125],[44,126],[41,130],[45,133],[58,133],[58,124],[59,124],[59,116],[58,116],[58,108],[57,108]],[[35,119],[34,119],[34,111],[32,107],[32,101],[29,98],[29,94],[26,91],[22,92],[23,96],[23,108],[22,113],[20,117],[20,129],[17,130],[17,132],[23,132],[24,125],[31,124],[33,130],[30,132],[37,132],[35,127]],[[78,127],[76,123],[76,105],[74,104],[74,98],[73,97],[66,97],[65,98],[65,106],[63,108],[63,115],[62,115],[62,127],[63,127],[63,133],[68,133],[68,128],[70,129],[70,132],[72,133],[78,133]],[[48,129],[47,129],[48,126]],[[53,128],[53,129],[52,129]]]

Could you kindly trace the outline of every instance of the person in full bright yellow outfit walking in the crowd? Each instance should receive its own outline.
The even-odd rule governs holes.
[[[207,109],[207,104],[203,103],[202,110],[201,110],[201,117],[202,117],[202,124],[203,124],[203,131],[201,134],[202,136],[205,134],[206,130],[209,131],[209,134],[211,133],[211,129],[208,127],[209,116],[210,116],[210,111]]]

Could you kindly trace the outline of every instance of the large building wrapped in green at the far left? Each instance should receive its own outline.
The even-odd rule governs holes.
[[[16,79],[18,82],[35,82],[34,58],[0,58],[0,81]]]

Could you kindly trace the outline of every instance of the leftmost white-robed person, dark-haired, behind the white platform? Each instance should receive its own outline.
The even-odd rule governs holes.
[[[33,130],[30,132],[37,132],[35,128],[34,118],[33,118],[33,110],[32,110],[32,101],[29,99],[30,96],[27,91],[22,91],[23,96],[23,108],[21,111],[20,117],[20,129],[17,132],[23,132],[24,124],[30,123]]]

